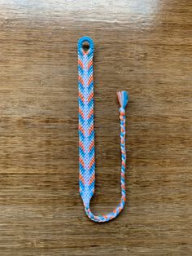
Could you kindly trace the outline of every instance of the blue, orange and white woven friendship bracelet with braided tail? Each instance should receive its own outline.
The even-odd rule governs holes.
[[[84,51],[83,43],[89,42],[89,50]],[[125,187],[124,172],[125,152],[125,107],[128,103],[126,91],[117,92],[120,103],[120,149],[121,149],[121,199],[116,209],[106,215],[94,215],[90,200],[94,195],[95,160],[94,160],[94,77],[93,77],[94,42],[91,38],[81,38],[78,42],[78,86],[79,86],[79,185],[80,195],[85,206],[85,213],[94,222],[103,223],[116,218],[124,208]]]

